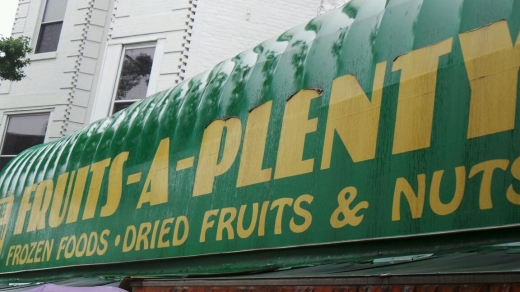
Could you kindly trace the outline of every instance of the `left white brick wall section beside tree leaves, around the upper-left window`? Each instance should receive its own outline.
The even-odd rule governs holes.
[[[33,48],[36,47],[45,2],[19,1],[13,37],[31,37]],[[68,1],[58,50],[30,55],[31,65],[24,69],[27,78],[12,82],[9,87],[2,86],[0,115],[41,110],[52,112],[48,140],[70,133],[78,123],[81,127],[87,124],[84,121],[95,86],[97,59],[103,54],[104,39],[108,34],[106,16],[109,4],[108,0]],[[5,121],[2,116],[0,121]],[[69,127],[69,123],[73,125]]]

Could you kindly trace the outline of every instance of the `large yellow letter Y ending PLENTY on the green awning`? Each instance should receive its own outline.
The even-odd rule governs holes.
[[[459,35],[471,86],[468,139],[515,127],[520,37],[505,20]]]

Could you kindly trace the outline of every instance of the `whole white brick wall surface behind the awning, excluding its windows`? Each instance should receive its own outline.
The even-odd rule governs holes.
[[[29,36],[36,45],[42,3],[19,1],[14,37]],[[58,51],[50,58],[32,56],[27,79],[0,84],[0,115],[52,111],[48,138],[59,138],[108,114],[125,45],[158,44],[153,90],[160,91],[309,21],[321,3],[69,0]]]

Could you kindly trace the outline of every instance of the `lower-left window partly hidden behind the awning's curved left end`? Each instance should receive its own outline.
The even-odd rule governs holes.
[[[23,150],[43,143],[49,113],[14,115],[7,118],[4,143],[0,154],[0,170]]]

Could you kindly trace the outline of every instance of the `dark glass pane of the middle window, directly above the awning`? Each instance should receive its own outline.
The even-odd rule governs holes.
[[[131,100],[146,97],[150,73],[152,72],[154,53],[155,47],[127,49],[125,51],[116,100]]]

